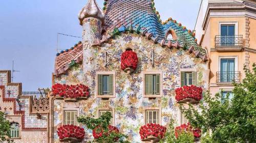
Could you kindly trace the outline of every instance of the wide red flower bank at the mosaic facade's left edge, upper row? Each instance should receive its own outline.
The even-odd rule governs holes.
[[[89,88],[83,84],[67,85],[56,83],[52,86],[53,94],[64,98],[89,97]]]

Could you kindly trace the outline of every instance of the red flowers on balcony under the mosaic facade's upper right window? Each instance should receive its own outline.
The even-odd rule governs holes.
[[[195,85],[184,86],[175,90],[175,99],[181,101],[187,98],[192,98],[196,101],[200,101],[202,99],[202,92],[203,90],[201,87],[196,87]]]

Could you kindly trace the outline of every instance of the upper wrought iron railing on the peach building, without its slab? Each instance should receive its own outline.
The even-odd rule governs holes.
[[[242,47],[243,35],[221,36],[215,37],[215,47]]]

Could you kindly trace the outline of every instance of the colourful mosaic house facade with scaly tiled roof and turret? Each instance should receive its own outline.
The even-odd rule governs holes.
[[[90,98],[73,103],[52,100],[50,140],[53,142],[59,142],[56,130],[64,124],[65,110],[77,110],[78,116],[97,118],[97,112],[102,108],[114,111],[114,125],[127,134],[131,142],[141,142],[139,128],[145,124],[147,108],[160,109],[162,125],[168,124],[170,118],[179,124],[175,89],[181,87],[182,70],[196,71],[197,86],[208,89],[208,82],[204,80],[208,78],[205,50],[197,45],[191,31],[173,19],[160,23],[152,1],[106,1],[104,5],[102,14],[95,1],[88,2],[78,15],[83,27],[83,41],[57,53],[53,84],[85,84],[90,88]],[[168,34],[174,39],[167,39]],[[121,54],[126,48],[136,52],[139,59],[132,74],[120,68]],[[97,97],[98,72],[115,73],[114,98]],[[161,73],[160,97],[143,96],[146,72]],[[92,139],[92,131],[86,131],[84,141]]]

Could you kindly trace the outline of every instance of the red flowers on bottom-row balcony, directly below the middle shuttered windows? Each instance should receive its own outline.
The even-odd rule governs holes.
[[[164,138],[166,132],[166,127],[161,126],[159,124],[146,124],[140,127],[140,138],[145,139],[150,135],[153,135],[159,139]]]

